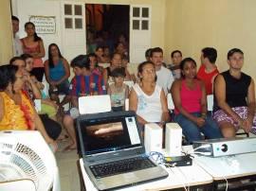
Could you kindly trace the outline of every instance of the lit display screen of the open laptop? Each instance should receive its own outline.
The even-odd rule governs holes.
[[[135,116],[80,120],[85,155],[141,146]]]

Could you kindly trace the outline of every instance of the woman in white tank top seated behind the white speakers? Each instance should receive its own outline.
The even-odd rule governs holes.
[[[129,110],[137,113],[141,125],[170,121],[164,91],[156,85],[155,65],[144,61],[137,67],[139,82],[134,85],[129,96]]]

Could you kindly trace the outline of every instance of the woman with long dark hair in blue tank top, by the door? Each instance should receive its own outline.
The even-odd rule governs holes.
[[[68,62],[64,59],[59,46],[56,43],[49,44],[48,60],[45,61],[46,80],[49,83],[49,96],[60,102],[58,95],[66,98],[61,105],[68,101],[70,69]]]

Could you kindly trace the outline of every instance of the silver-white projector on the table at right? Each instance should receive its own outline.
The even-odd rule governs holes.
[[[211,157],[256,152],[256,137],[235,137],[195,141],[192,143],[192,147],[194,153]]]

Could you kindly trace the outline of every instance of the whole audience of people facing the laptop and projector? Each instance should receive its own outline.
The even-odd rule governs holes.
[[[146,61],[138,64],[134,74],[127,66],[127,47],[121,41],[107,58],[101,46],[95,53],[74,58],[70,66],[75,76],[69,83],[69,63],[58,45],[48,46],[48,60],[42,71],[43,40],[31,23],[25,28],[27,37],[22,41],[25,54],[13,57],[9,65],[0,66],[0,130],[39,130],[46,142],[57,149],[62,123],[71,141],[65,150],[75,149],[78,98],[108,94],[113,112],[124,110],[129,98],[129,110],[137,113],[141,134],[146,123],[164,127],[171,121],[179,124],[189,144],[203,138],[234,137],[239,129],[256,133],[254,81],[242,72],[244,53],[240,49],[229,50],[229,70],[219,73],[215,65],[217,51],[212,47],[202,49],[198,72],[192,58],[182,60],[181,51],[174,50],[173,62],[166,64],[163,50],[150,48],[145,53]],[[36,47],[28,51],[28,43]],[[110,61],[110,65],[103,68],[99,65],[101,61]],[[42,73],[49,84],[48,96],[43,91]],[[128,87],[127,80],[135,84]],[[60,94],[64,95],[62,101]],[[168,94],[174,101],[173,118],[168,110]],[[214,97],[212,113],[207,110],[209,95]],[[38,113],[34,107],[37,99],[42,103]],[[70,110],[57,120],[55,116],[65,103],[71,103]]]

